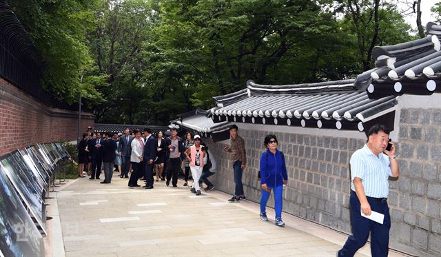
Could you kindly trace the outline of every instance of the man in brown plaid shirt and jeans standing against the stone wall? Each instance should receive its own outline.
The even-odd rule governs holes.
[[[243,194],[242,174],[243,169],[247,166],[247,155],[245,153],[245,141],[237,134],[238,127],[232,125],[229,128],[229,141],[230,145],[225,145],[223,150],[225,152],[232,153],[232,163],[234,171],[234,183],[236,187],[234,189],[234,196],[228,199],[230,202],[237,202],[245,200],[245,194]]]

